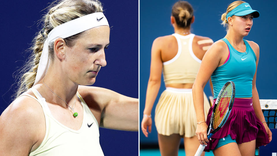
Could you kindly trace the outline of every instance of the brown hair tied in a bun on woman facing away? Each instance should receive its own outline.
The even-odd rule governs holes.
[[[173,5],[171,14],[178,27],[186,28],[190,26],[193,9],[187,1],[178,1]]]

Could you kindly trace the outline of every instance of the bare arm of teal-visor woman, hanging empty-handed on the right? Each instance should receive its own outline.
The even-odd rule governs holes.
[[[249,41],[248,41],[249,42]],[[259,118],[261,122],[265,121],[265,117],[263,116],[263,112],[261,109],[261,104],[259,100],[259,94],[256,88],[256,77],[257,77],[257,68],[258,68],[258,63],[259,63],[259,56],[260,56],[260,48],[259,45],[256,44],[255,42],[249,42],[254,53],[256,54],[257,60],[256,60],[256,72],[253,77],[252,81],[252,101],[253,101],[253,108],[255,111],[256,116]],[[272,133],[269,130],[266,122],[263,122],[263,126],[265,127],[268,135],[269,142],[272,140]]]

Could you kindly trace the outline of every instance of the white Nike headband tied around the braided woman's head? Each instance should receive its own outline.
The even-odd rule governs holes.
[[[103,12],[96,12],[76,18],[72,21],[68,21],[52,29],[44,42],[42,54],[40,56],[40,62],[38,64],[37,75],[35,77],[35,83],[33,86],[35,86],[44,77],[48,69],[50,62],[50,59],[48,58],[48,46],[50,42],[54,42],[57,38],[67,38],[69,36],[102,25],[109,26],[109,23]]]

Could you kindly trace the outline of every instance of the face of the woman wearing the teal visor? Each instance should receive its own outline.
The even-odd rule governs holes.
[[[233,29],[242,36],[247,36],[253,25],[253,15],[233,16]]]

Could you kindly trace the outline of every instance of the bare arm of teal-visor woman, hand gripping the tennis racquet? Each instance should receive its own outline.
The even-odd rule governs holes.
[[[205,53],[201,62],[201,66],[192,87],[193,103],[197,122],[206,121],[204,115],[203,90],[214,70],[224,63],[222,61],[222,55],[226,54],[228,56],[227,53],[229,51],[226,51],[226,47],[227,45],[223,41],[215,42]],[[199,142],[206,145],[208,140],[207,124],[205,122],[197,124],[196,134]]]

